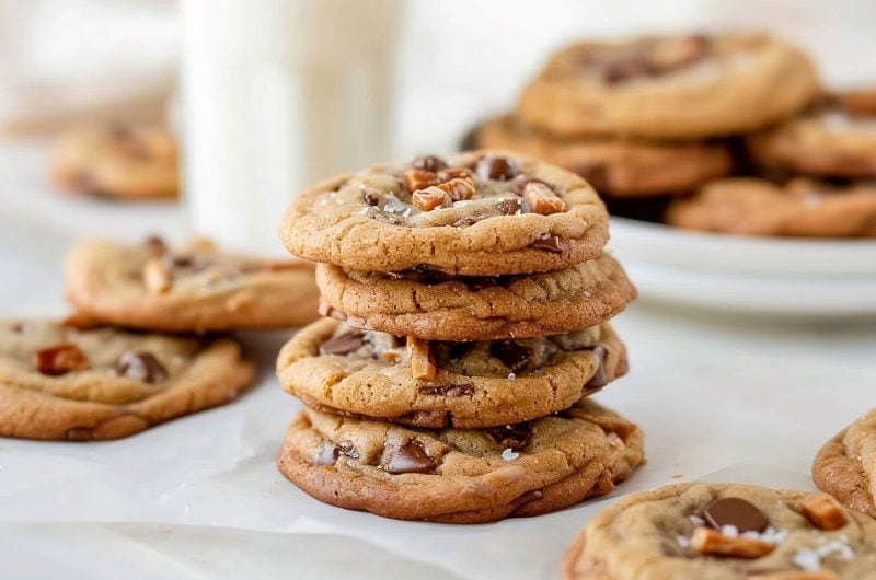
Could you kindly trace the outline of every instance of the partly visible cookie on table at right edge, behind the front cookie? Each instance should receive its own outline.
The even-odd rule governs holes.
[[[828,441],[812,477],[843,504],[876,518],[876,408]]]

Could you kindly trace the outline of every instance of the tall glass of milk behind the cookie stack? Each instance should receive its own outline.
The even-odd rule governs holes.
[[[292,197],[388,159],[403,0],[184,0],[182,132],[194,233],[279,254]]]

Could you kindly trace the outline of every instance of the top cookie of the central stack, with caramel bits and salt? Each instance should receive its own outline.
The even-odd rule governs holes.
[[[292,254],[355,270],[495,276],[592,259],[607,241],[607,221],[581,177],[475,151],[323,182],[292,202],[280,236]]]

